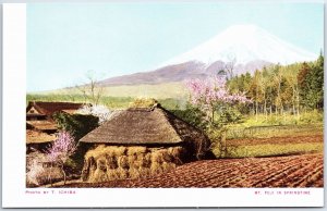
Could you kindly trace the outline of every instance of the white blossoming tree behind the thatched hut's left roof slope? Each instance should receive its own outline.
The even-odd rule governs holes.
[[[111,112],[102,104],[89,105],[85,104],[76,111],[80,114],[90,114],[99,117],[99,124],[104,123],[110,117]]]

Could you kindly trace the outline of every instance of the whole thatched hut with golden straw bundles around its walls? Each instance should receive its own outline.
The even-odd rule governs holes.
[[[87,182],[161,173],[204,158],[209,147],[201,131],[159,104],[118,111],[80,144],[90,148],[82,173]]]

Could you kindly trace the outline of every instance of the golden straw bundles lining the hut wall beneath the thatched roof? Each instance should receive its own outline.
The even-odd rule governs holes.
[[[182,146],[98,146],[85,154],[82,179],[88,183],[147,177],[170,171],[185,161]]]

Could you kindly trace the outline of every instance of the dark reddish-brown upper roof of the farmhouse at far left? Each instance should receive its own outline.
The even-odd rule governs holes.
[[[26,112],[28,112],[32,108],[39,114],[44,115],[52,115],[55,112],[64,111],[68,113],[72,113],[73,111],[78,110],[83,103],[73,103],[73,102],[40,102],[40,101],[33,101],[28,102],[26,108]]]

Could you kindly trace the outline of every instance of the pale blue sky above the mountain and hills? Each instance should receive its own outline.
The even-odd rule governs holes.
[[[324,47],[324,5],[305,2],[27,4],[27,91],[152,71],[238,24],[304,50]]]

